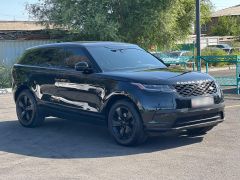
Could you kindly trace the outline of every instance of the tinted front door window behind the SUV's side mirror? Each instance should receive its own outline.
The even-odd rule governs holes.
[[[66,48],[66,58],[64,60],[64,66],[67,68],[74,68],[75,64],[78,62],[88,62],[90,61],[86,53],[78,47]]]

